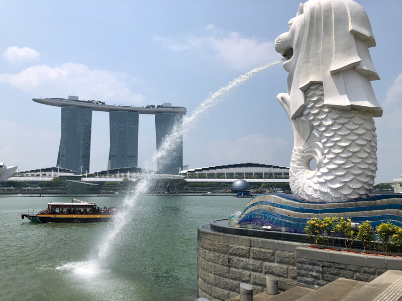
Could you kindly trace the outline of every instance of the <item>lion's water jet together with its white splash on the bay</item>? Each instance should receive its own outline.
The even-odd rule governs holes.
[[[158,159],[163,159],[163,161],[168,160],[169,154],[174,150],[175,145],[182,141],[184,135],[191,132],[192,128],[199,123],[200,119],[202,119],[211,108],[222,102],[236,87],[240,86],[254,75],[282,61],[283,59],[275,60],[255,68],[212,94],[195,109],[190,117],[183,119],[181,124],[174,126],[171,134],[165,138],[158,152],[152,157],[151,163],[155,165]],[[151,164],[146,166],[146,170],[150,171],[150,166]],[[124,244],[127,240],[127,238],[125,238],[126,235],[124,235],[124,230],[128,228],[130,220],[135,216],[136,204],[139,203],[138,201],[144,194],[150,191],[155,183],[155,178],[152,173],[146,172],[142,174],[141,179],[137,180],[137,182],[135,188],[123,201],[114,222],[110,224],[108,233],[103,237],[102,243],[99,244],[97,254],[93,254],[89,261],[65,264],[59,267],[59,269],[72,271],[81,278],[92,277],[97,272],[100,273],[108,269],[108,262],[118,256],[116,248],[118,248],[120,244]],[[112,256],[112,254],[114,256]]]

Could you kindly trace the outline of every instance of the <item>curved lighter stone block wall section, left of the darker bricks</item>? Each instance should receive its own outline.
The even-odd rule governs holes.
[[[241,282],[254,294],[266,290],[266,274],[279,278],[280,290],[296,283],[296,247],[302,243],[262,239],[198,228],[198,296],[226,300],[239,294]]]

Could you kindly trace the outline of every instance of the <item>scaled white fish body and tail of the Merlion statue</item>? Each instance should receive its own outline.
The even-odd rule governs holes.
[[[373,114],[325,105],[322,84],[311,85],[306,96],[307,107],[297,121],[302,123],[298,128],[308,125],[311,134],[292,152],[289,178],[293,195],[311,202],[367,197],[377,170]],[[314,171],[310,169],[313,159],[317,160]]]

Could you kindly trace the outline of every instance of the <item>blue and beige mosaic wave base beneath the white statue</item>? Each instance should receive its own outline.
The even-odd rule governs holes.
[[[243,212],[229,217],[229,226],[304,233],[306,221],[325,217],[350,218],[352,222],[370,221],[375,227],[383,222],[402,226],[402,195],[378,195],[338,203],[312,203],[282,193],[267,193],[253,198]]]

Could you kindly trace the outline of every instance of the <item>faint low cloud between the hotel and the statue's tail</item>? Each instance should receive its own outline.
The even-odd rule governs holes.
[[[208,146],[209,162],[269,163],[288,145],[284,138],[269,138],[263,134],[248,134],[236,141],[212,141]],[[222,163],[223,164],[223,163]]]

